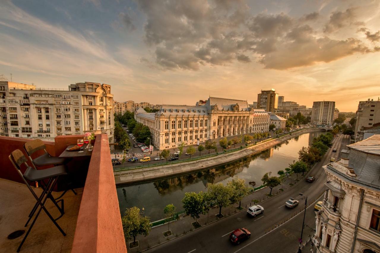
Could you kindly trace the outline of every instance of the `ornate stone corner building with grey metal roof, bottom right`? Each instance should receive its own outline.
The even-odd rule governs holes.
[[[316,213],[317,252],[380,252],[380,135],[347,146],[323,166],[327,190]]]

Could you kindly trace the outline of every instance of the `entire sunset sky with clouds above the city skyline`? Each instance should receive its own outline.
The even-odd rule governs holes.
[[[380,97],[379,28],[378,0],[2,0],[0,75],[151,104],[274,88],[355,112]]]

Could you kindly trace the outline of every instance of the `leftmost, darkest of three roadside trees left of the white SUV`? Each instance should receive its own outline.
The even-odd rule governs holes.
[[[199,214],[207,214],[207,201],[203,192],[185,192],[182,203],[184,204],[185,213],[196,221],[199,218]]]

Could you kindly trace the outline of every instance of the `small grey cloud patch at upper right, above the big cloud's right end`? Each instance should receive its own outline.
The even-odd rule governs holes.
[[[342,27],[353,24],[355,21],[355,8],[348,8],[346,11],[334,11],[325,25],[323,32],[332,33]]]

